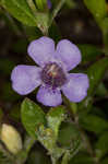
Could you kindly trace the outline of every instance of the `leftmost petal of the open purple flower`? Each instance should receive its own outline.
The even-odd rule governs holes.
[[[40,84],[40,68],[19,65],[11,74],[12,87],[21,95],[31,93]]]

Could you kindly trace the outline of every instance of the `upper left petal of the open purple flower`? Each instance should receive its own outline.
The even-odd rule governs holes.
[[[49,37],[43,36],[39,39],[33,40],[27,51],[37,65],[43,66],[52,57],[55,42]]]

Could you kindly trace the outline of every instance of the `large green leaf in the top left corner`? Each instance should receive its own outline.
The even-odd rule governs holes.
[[[36,26],[34,14],[26,0],[1,0],[0,4],[22,23],[29,26]]]

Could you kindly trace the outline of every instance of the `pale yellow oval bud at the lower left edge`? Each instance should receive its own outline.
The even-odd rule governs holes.
[[[13,154],[16,154],[22,149],[21,136],[15,128],[10,125],[2,125],[0,139]]]

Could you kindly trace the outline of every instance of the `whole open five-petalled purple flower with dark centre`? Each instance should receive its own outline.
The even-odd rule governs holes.
[[[62,103],[61,92],[71,102],[81,102],[87,95],[88,78],[83,73],[68,73],[81,62],[79,48],[62,39],[55,49],[55,42],[40,37],[28,46],[28,55],[39,66],[15,67],[11,74],[12,87],[26,95],[40,85],[37,99],[46,106]]]

